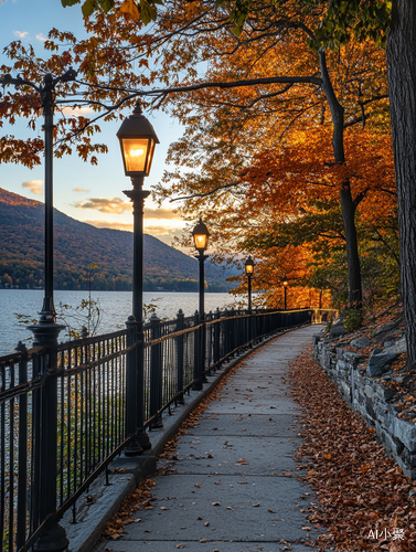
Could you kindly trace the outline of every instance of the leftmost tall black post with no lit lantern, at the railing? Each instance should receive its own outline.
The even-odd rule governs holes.
[[[0,85],[30,86],[34,88],[41,99],[44,117],[44,297],[39,322],[30,326],[36,346],[49,348],[47,362],[44,363],[44,374],[47,378],[41,388],[42,435],[34,446],[41,449],[40,469],[40,520],[47,517],[54,519],[56,512],[56,447],[57,447],[57,336],[64,326],[56,323],[56,311],[53,297],[53,129],[55,109],[55,86],[57,83],[75,81],[76,71],[70,68],[63,75],[54,77],[51,73],[44,76],[41,86],[21,78],[4,75]],[[24,534],[18,535],[23,539]],[[22,545],[19,543],[18,548]],[[34,544],[38,552],[62,552],[68,546],[65,530],[52,521],[43,535]]]

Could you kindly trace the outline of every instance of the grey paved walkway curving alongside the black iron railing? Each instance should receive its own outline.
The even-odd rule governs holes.
[[[299,407],[285,382],[288,362],[320,328],[285,333],[243,361],[180,437],[178,459],[159,463],[174,470],[152,477],[157,506],[95,552],[310,552],[313,491],[297,479]]]

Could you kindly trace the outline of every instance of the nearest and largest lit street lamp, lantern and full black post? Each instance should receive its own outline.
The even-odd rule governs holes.
[[[145,424],[145,349],[143,349],[143,206],[150,192],[142,189],[153,159],[154,145],[159,144],[157,134],[142,115],[137,103],[132,115],[125,119],[117,132],[120,141],[126,177],[131,178],[132,190],[124,193],[132,202],[134,215],[134,267],[132,267],[132,316],[127,327],[134,329],[137,347],[131,351],[127,367],[127,434],[137,438],[126,447],[125,454],[134,456],[151,448]]]

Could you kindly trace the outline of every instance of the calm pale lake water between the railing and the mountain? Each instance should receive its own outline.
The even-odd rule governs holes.
[[[103,309],[103,321],[99,333],[107,333],[125,328],[127,317],[131,314],[130,291],[92,291],[93,299],[99,299]],[[55,291],[55,307],[60,302],[76,307],[82,299],[88,299],[86,291]],[[143,302],[157,305],[160,318],[172,319],[179,309],[185,316],[191,316],[199,307],[198,293],[146,291]],[[14,351],[19,341],[25,340],[32,333],[19,325],[14,312],[28,315],[38,319],[42,309],[43,291],[41,289],[0,289],[0,355]],[[223,309],[234,302],[234,296],[228,294],[205,294],[205,310]],[[29,347],[31,341],[26,341]]]

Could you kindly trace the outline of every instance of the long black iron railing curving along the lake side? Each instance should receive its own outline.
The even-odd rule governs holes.
[[[206,375],[231,357],[285,328],[310,323],[311,311],[228,310],[174,320],[152,317],[145,342],[134,329],[0,358],[0,552],[29,550],[62,518],[135,438],[127,427],[137,397],[127,393],[129,360],[143,359],[145,425],[162,426],[163,412],[201,389]],[[130,364],[131,365],[131,364]],[[53,390],[51,392],[50,390]],[[57,397],[54,429],[43,431],[50,396]],[[50,421],[47,426],[51,429]],[[43,516],[51,489],[42,460],[56,457],[56,509]],[[107,474],[108,475],[108,474]],[[50,510],[49,510],[50,511]]]

